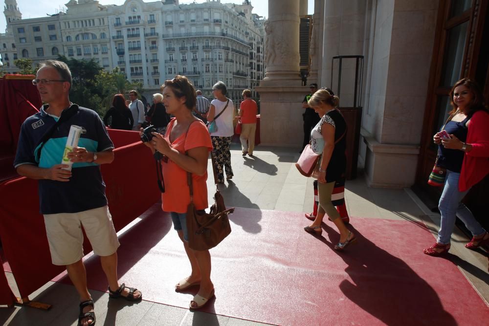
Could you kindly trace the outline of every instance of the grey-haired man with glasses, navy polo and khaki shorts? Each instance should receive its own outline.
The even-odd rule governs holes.
[[[142,293],[119,285],[119,241],[105,196],[100,164],[114,159],[104,123],[95,111],[69,101],[71,72],[60,61],[41,64],[33,84],[45,104],[22,124],[14,167],[17,173],[39,180],[40,211],[55,265],[64,265],[80,295],[79,325],[95,324],[94,303],[87,288],[82,225],[93,251],[100,256],[111,298],[141,300]],[[78,145],[68,152],[73,163],[60,164],[71,125],[84,129]]]

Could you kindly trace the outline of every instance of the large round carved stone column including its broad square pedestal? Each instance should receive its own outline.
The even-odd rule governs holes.
[[[301,86],[299,73],[299,4],[299,0],[268,0],[267,72],[255,87],[260,94],[261,143],[297,150],[304,135],[301,103],[309,93],[309,87]]]

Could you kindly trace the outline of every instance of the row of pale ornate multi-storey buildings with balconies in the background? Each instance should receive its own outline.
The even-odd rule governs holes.
[[[181,74],[209,97],[212,85],[222,80],[235,101],[264,77],[265,21],[252,13],[248,0],[241,5],[128,0],[120,6],[70,0],[66,7],[22,20],[16,1],[5,0],[8,27],[0,44],[8,73],[17,70],[14,54],[34,65],[61,54],[94,59],[108,70],[118,66],[130,81],[143,84],[146,95]]]

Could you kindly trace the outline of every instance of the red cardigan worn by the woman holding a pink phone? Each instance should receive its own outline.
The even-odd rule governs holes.
[[[472,150],[465,153],[460,172],[459,191],[464,192],[489,174],[489,113],[479,110],[468,124],[467,144]]]

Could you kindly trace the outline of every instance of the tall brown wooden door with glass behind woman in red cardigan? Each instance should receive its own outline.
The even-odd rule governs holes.
[[[435,203],[438,202],[441,191],[426,183],[437,153],[433,135],[443,126],[452,109],[449,98],[451,87],[461,78],[469,77],[476,80],[484,90],[486,101],[489,99],[489,20],[485,19],[488,14],[486,0],[440,1],[420,159],[416,184],[413,187],[431,208],[436,208]],[[486,180],[474,187],[465,198],[474,215],[486,226],[487,218],[482,218],[484,213],[477,203],[487,201],[487,194],[489,181]],[[481,198],[484,200],[481,201]]]

